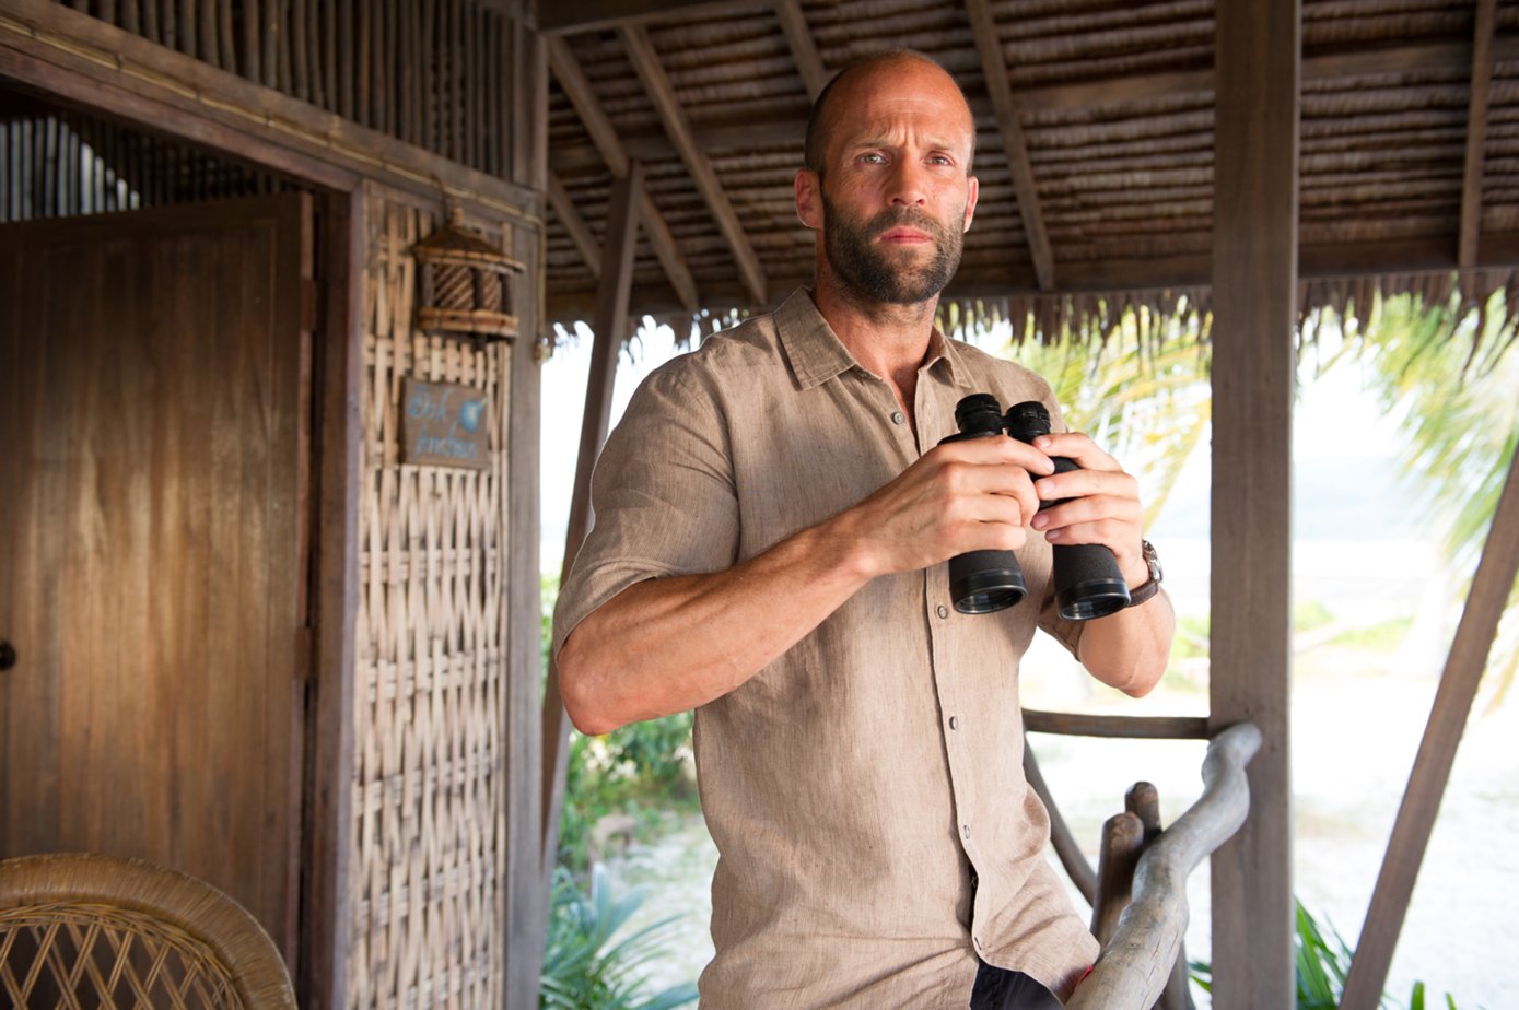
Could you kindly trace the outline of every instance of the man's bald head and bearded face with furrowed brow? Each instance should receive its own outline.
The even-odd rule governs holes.
[[[867,301],[927,302],[960,266],[975,211],[969,109],[942,70],[916,59],[869,68],[829,108],[823,175],[797,179],[820,267]]]

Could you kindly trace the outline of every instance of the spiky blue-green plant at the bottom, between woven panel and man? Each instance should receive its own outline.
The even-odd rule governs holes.
[[[614,901],[600,869],[591,873],[589,895],[570,870],[554,870],[541,1010],[671,1010],[696,1001],[691,983],[646,992],[639,971],[661,957],[673,919],[627,933],[624,926],[643,901],[641,890]]]

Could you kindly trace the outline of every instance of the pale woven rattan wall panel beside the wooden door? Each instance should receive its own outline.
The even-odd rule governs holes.
[[[378,191],[366,217],[349,1007],[495,1007],[506,963],[509,345],[415,333],[407,251],[442,219]],[[509,249],[503,232],[486,237]],[[399,463],[407,375],[489,393],[489,469]]]

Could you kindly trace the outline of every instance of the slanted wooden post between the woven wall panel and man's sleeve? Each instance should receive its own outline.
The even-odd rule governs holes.
[[[632,161],[627,176],[612,187],[608,211],[606,249],[602,254],[602,282],[592,320],[595,342],[591,345],[591,374],[586,378],[585,413],[580,419],[580,453],[576,459],[574,491],[570,500],[570,521],[565,529],[565,557],[559,570],[559,585],[570,574],[580,542],[591,530],[591,471],[606,440],[612,418],[612,387],[617,383],[617,358],[627,330],[629,298],[633,289],[633,254],[638,246],[636,194],[644,185],[643,163]],[[559,816],[564,811],[565,764],[570,756],[570,717],[559,691],[559,671],[548,662],[548,690],[544,699],[544,843],[541,851],[542,879],[547,887],[559,849]]]

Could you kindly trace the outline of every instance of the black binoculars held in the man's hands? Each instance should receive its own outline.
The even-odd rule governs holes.
[[[1031,443],[1037,436],[1050,434],[1050,412],[1037,399],[1015,404],[1004,415],[996,396],[972,393],[955,404],[954,419],[960,433],[943,442],[1007,434]],[[1053,459],[1057,474],[1080,469],[1063,456]],[[1039,509],[1057,504],[1060,501],[1047,501]],[[1013,606],[1027,594],[1028,586],[1013,551],[969,551],[949,559],[949,595],[954,609],[962,614],[992,614]],[[1060,617],[1089,621],[1129,606],[1129,583],[1118,571],[1113,553],[1101,544],[1056,545],[1054,601]]]

